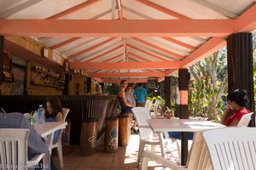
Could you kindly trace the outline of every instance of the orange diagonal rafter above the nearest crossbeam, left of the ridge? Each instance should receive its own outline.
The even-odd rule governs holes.
[[[89,1],[86,1],[86,2],[84,2],[84,3],[81,3],[81,4],[79,4],[79,5],[75,6],[75,7],[73,7],[73,8],[68,8],[67,10],[62,11],[62,12],[59,13],[59,14],[52,15],[52,16],[50,16],[50,17],[47,18],[47,19],[51,19],[51,20],[59,19],[59,18],[61,18],[62,16],[66,16],[66,15],[68,15],[68,14],[72,14],[72,13],[74,13],[74,12],[76,12],[76,11],[82,9],[82,8],[88,7],[88,6],[90,6],[91,4],[97,3],[97,2],[99,2],[99,1],[100,1],[100,0],[89,0]]]

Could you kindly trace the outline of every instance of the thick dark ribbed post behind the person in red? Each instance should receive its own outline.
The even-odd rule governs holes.
[[[250,100],[247,108],[254,112],[249,126],[255,127],[252,33],[231,34],[227,38],[227,51],[229,93],[237,88],[247,91]]]

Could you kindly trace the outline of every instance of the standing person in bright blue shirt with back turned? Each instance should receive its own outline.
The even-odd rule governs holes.
[[[145,107],[147,95],[148,93],[146,88],[143,88],[143,83],[138,83],[138,87],[134,90],[137,107]]]

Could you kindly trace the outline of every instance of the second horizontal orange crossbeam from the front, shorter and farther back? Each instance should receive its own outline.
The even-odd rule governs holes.
[[[178,69],[180,61],[154,61],[154,62],[70,62],[71,70],[131,70],[131,69]]]

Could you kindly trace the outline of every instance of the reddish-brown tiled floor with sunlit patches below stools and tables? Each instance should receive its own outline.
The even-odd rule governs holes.
[[[77,169],[77,170],[136,170],[137,168],[137,152],[139,144],[139,135],[132,134],[129,144],[127,146],[119,146],[115,153],[105,153],[103,150],[97,150],[93,156],[82,156],[80,154],[79,146],[70,146],[66,154],[64,154],[64,168],[63,169]],[[170,161],[177,161],[177,150],[175,144],[168,144],[168,159]],[[99,147],[101,148],[101,147]],[[147,146],[146,150],[150,147]],[[157,147],[156,152],[160,154],[160,148]],[[59,168],[59,160],[54,156],[55,165]],[[150,170],[163,169],[155,162],[149,161]]]

